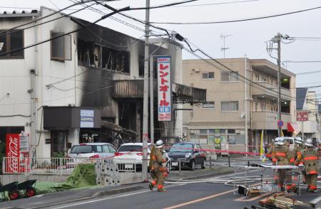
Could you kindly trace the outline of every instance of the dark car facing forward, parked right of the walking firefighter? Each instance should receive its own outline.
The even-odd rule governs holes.
[[[173,144],[168,151],[172,168],[178,168],[180,161],[181,166],[188,166],[194,170],[195,166],[206,167],[206,154],[201,151],[200,144],[194,142],[179,142]]]

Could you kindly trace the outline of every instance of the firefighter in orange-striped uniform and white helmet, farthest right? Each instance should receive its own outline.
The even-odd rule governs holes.
[[[314,193],[317,191],[317,174],[320,171],[318,154],[315,150],[312,139],[307,139],[305,142],[305,149],[297,156],[296,164],[299,164],[300,161],[303,162],[305,166],[305,172],[307,174],[307,191]]]

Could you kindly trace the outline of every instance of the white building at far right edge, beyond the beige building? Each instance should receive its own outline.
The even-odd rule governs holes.
[[[297,88],[297,112],[307,112],[307,121],[297,122],[298,136],[316,141],[319,136],[319,118],[317,95],[314,91],[305,87]]]

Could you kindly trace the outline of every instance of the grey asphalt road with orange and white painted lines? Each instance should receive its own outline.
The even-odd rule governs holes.
[[[255,176],[257,174],[257,172],[252,172],[249,175]],[[226,179],[227,176],[223,178]],[[210,178],[209,181],[217,181],[218,179],[222,178]],[[170,184],[166,187],[164,193],[143,189],[93,200],[55,205],[52,208],[250,208],[251,205],[258,205],[258,200],[265,198],[265,196],[244,198],[234,195],[233,186],[225,186],[224,183],[188,182]],[[302,191],[302,196],[295,198],[307,202],[318,197],[320,198],[320,193],[310,194]]]

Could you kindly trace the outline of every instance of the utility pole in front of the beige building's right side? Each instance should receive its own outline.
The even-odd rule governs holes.
[[[281,38],[282,35],[277,33],[277,36],[272,38],[273,43],[277,43],[277,120],[281,120]],[[277,136],[281,136],[281,127],[277,127]]]

